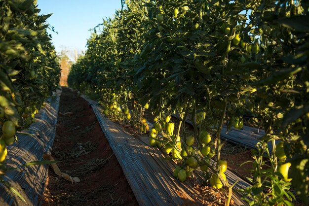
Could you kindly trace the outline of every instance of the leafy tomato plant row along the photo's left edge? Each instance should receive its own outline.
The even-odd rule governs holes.
[[[0,0],[0,182],[7,145],[27,129],[59,84],[58,58],[37,0]]]

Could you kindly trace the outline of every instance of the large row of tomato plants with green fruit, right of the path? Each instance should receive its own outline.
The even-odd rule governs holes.
[[[220,132],[245,124],[265,135],[252,152],[250,205],[308,203],[309,25],[301,0],[125,1],[95,28],[68,83],[96,97],[105,115],[126,122],[171,153],[185,181],[200,167],[209,184],[232,187]],[[144,112],[155,116],[149,128]],[[171,114],[182,121],[175,125]],[[187,117],[194,135],[183,127]],[[272,152],[269,152],[271,142]],[[278,143],[279,142],[279,143]],[[210,165],[210,158],[217,164]]]

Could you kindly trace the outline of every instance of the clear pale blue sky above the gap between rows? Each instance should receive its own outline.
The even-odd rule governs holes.
[[[56,51],[86,50],[90,29],[113,16],[116,9],[121,9],[120,0],[38,0],[40,14],[53,13],[47,19],[58,34],[52,34]]]

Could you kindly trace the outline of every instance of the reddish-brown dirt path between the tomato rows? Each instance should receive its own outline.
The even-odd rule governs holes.
[[[138,205],[92,108],[63,87],[52,156],[61,172],[80,182],[59,178],[51,170],[43,206]]]

